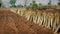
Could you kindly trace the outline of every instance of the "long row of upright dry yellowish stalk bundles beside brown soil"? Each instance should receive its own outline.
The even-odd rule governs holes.
[[[21,16],[24,16],[29,21],[52,29],[54,33],[57,33],[58,29],[60,28],[60,12],[57,10],[48,9],[33,11],[26,9],[25,10],[17,9],[11,11]]]

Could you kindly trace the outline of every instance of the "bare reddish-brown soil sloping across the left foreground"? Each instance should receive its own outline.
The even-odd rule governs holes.
[[[11,12],[0,10],[0,34],[54,34],[47,28],[27,21],[24,17]]]

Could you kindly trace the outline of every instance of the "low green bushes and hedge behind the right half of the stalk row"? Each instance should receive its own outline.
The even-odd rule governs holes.
[[[60,3],[59,3],[60,5]],[[41,3],[36,4],[36,1],[33,1],[32,3],[30,3],[30,6],[27,6],[27,9],[56,9],[56,5],[51,5],[51,0],[49,0],[48,5],[43,5]]]

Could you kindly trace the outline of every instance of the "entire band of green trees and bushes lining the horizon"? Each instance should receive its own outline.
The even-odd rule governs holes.
[[[15,5],[16,0],[10,0],[10,4],[12,6],[9,7],[15,7],[15,8],[21,8],[21,7],[26,7],[27,9],[49,9],[49,8],[53,8],[56,9],[56,7],[60,8],[60,0],[57,3],[57,5],[51,5],[51,0],[49,0],[47,5],[43,5],[41,3],[37,4],[35,0],[32,0],[32,3],[29,4],[29,0],[24,0],[24,5]],[[5,8],[7,5],[5,5],[1,0],[0,0],[0,6],[2,6],[3,8]]]

